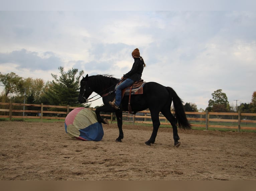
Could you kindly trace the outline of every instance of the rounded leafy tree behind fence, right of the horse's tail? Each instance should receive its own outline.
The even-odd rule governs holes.
[[[213,99],[209,100],[208,111],[212,112],[229,112],[230,106],[228,102],[228,97],[222,90],[216,90],[212,93]]]

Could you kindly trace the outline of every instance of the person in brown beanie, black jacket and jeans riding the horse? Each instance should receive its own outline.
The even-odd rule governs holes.
[[[140,51],[138,48],[134,49],[132,52],[132,58],[134,59],[134,63],[132,65],[132,69],[123,75],[123,82],[116,87],[116,98],[113,102],[109,101],[109,104],[115,109],[119,109],[122,99],[122,90],[131,86],[134,82],[141,80],[142,71],[146,66],[143,58],[140,56]]]

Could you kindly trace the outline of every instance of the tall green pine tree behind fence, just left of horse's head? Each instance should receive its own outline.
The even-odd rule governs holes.
[[[78,95],[80,88],[80,78],[84,71],[78,72],[78,69],[69,69],[64,71],[59,67],[60,76],[51,74],[54,80],[50,82],[45,92],[44,99],[52,105],[78,105]]]

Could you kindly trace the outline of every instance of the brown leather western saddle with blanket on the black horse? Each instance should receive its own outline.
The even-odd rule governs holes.
[[[121,84],[122,81],[120,81],[116,87]],[[128,86],[127,88],[122,90],[122,99],[124,95],[129,95],[129,102],[128,102],[128,110],[129,113],[132,114],[132,108],[131,108],[131,95],[138,95],[143,94],[143,86],[146,84],[143,80],[134,82],[131,86]],[[115,87],[115,89],[116,89]]]

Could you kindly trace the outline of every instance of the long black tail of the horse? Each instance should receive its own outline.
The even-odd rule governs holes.
[[[178,127],[182,127],[183,129],[191,129],[191,124],[188,122],[185,114],[185,110],[183,107],[183,101],[179,98],[179,96],[176,94],[176,92],[170,88],[166,87],[168,90],[170,97],[172,97],[173,100],[173,106],[175,110],[175,117],[176,117],[176,123]]]

